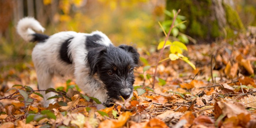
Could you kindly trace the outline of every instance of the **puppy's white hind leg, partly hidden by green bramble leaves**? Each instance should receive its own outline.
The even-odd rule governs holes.
[[[54,84],[52,83],[52,76],[53,74],[50,74],[49,72],[45,71],[37,71],[37,81],[38,81],[38,89],[39,90],[46,90],[49,88],[54,88]],[[46,91],[41,91],[41,94],[44,97],[43,105],[44,107],[48,107],[50,103],[54,104],[54,99],[49,99],[50,97],[53,97],[56,95],[54,92],[46,93]]]

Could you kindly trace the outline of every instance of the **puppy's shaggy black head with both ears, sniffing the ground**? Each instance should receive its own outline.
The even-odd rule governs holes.
[[[121,101],[120,96],[124,99],[132,97],[133,69],[139,66],[139,53],[135,48],[102,46],[89,50],[87,57],[91,75],[97,73],[110,99]]]

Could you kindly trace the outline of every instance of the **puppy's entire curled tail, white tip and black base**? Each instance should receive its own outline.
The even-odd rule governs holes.
[[[26,17],[19,20],[17,25],[18,34],[27,42],[44,41],[48,35],[35,33],[35,31],[44,32],[45,28],[32,17]]]

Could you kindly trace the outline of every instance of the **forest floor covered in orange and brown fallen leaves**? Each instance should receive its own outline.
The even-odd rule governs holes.
[[[158,65],[159,52],[141,52],[131,101],[105,108],[80,94],[75,80],[54,78],[58,103],[44,108],[33,63],[1,73],[0,127],[180,128],[256,126],[256,33],[233,41],[188,45],[182,60]],[[162,58],[168,56],[164,51]]]

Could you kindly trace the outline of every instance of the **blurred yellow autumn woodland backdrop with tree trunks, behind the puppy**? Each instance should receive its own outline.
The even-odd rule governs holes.
[[[114,45],[136,45],[155,52],[172,23],[172,10],[181,9],[170,40],[198,45],[217,39],[235,39],[256,26],[255,0],[0,0],[0,72],[31,62],[34,43],[25,43],[16,24],[32,16],[46,28],[91,33],[99,30]]]

